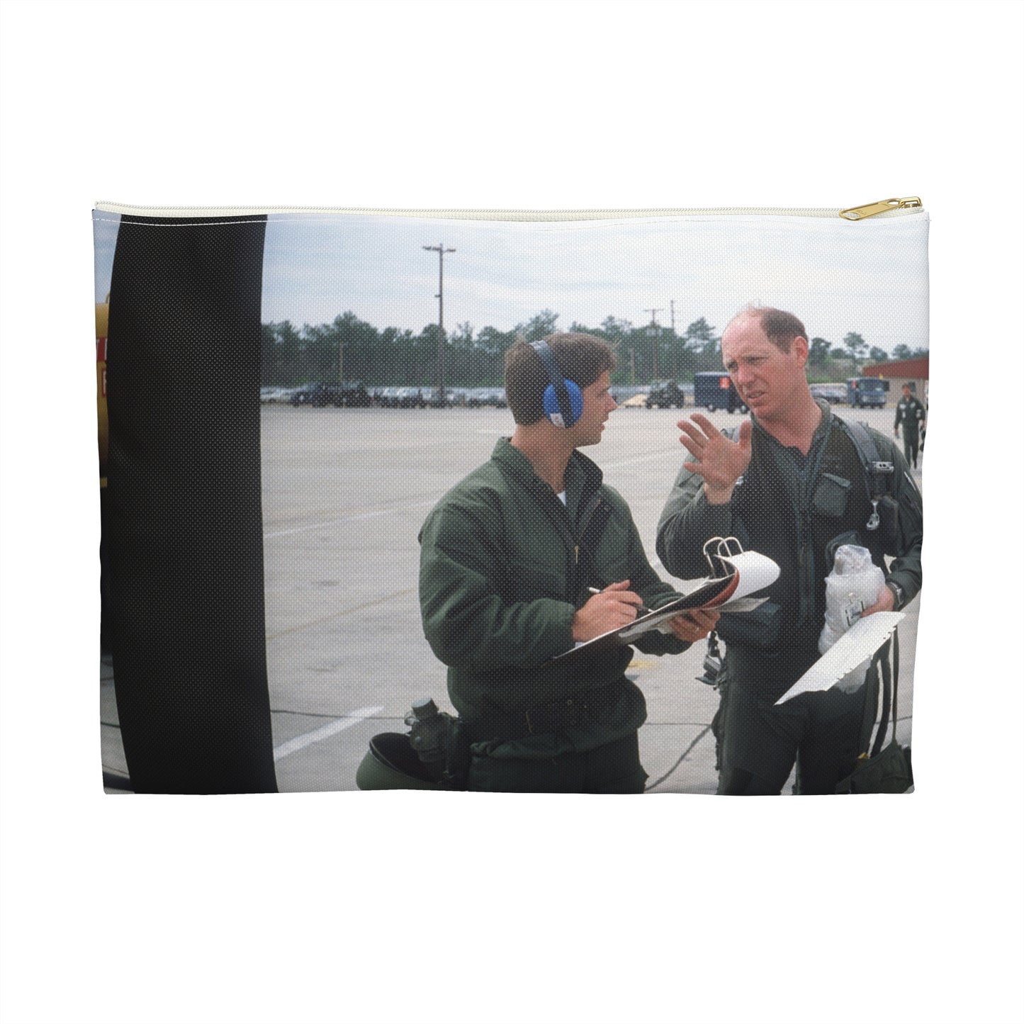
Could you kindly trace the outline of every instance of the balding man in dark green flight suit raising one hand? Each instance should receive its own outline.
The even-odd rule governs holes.
[[[793,313],[751,307],[733,317],[722,361],[751,419],[734,439],[698,413],[679,422],[690,459],[657,526],[662,562],[684,579],[705,566],[703,545],[714,537],[736,537],[779,566],[761,607],[723,613],[717,628],[727,648],[716,723],[720,794],[778,794],[795,762],[800,793],[835,793],[854,767],[867,686],[775,705],[820,656],[825,577],[837,548],[867,548],[885,572],[864,615],[899,610],[921,589],[921,493],[889,438],[847,425],[815,400],[804,369],[808,349]],[[890,478],[885,505],[869,489],[856,437],[876,450],[871,475]]]

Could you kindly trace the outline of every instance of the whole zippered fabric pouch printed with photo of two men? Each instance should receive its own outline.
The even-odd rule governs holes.
[[[105,791],[912,792],[929,219],[858,209],[97,208]]]

